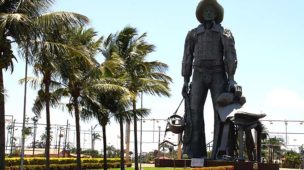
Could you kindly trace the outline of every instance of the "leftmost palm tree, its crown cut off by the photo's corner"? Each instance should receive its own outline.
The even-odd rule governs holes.
[[[16,42],[25,49],[26,63],[28,61],[29,43],[36,41],[43,30],[54,27],[71,28],[75,25],[88,22],[85,16],[67,13],[44,13],[52,5],[53,0],[10,0],[0,1],[0,131],[4,125],[4,91],[2,69],[11,68],[13,71],[13,60],[15,56],[11,44]],[[59,44],[48,43],[49,47],[58,47]],[[26,69],[27,70],[27,69]],[[27,72],[27,71],[26,71]],[[26,81],[25,81],[26,82]],[[26,89],[26,83],[25,83]],[[26,90],[25,90],[26,91]],[[25,107],[25,106],[24,106]],[[5,125],[4,125],[5,127]],[[23,125],[24,127],[24,125]],[[4,133],[0,136],[0,144]],[[23,157],[21,158],[23,160]],[[23,161],[21,160],[21,164]],[[4,164],[4,150],[0,150],[0,169]]]

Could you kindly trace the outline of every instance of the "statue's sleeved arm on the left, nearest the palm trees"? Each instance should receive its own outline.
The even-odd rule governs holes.
[[[193,50],[194,50],[194,31],[189,31],[185,40],[184,56],[182,62],[182,76],[184,83],[189,83],[192,75]]]

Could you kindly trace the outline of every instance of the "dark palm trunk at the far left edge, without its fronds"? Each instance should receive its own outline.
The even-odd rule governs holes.
[[[5,102],[3,72],[0,68],[0,170],[5,169]]]

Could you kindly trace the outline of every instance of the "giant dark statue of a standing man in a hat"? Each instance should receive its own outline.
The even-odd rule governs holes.
[[[236,87],[237,57],[234,38],[221,26],[223,7],[216,0],[202,0],[196,9],[200,25],[188,32],[182,62],[182,94],[190,101],[190,121],[186,119],[183,152],[191,158],[206,158],[204,104],[208,90],[214,109],[214,137],[211,159],[216,159],[224,123],[220,120],[217,99]],[[191,87],[190,78],[192,76]],[[229,90],[228,90],[229,91]],[[227,142],[229,148],[229,142]]]

